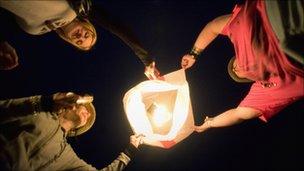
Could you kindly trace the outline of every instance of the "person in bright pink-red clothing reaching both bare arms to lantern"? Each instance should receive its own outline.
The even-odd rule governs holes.
[[[235,57],[228,73],[237,82],[252,83],[247,96],[233,109],[206,117],[197,132],[238,124],[259,117],[267,122],[304,97],[304,5],[295,1],[245,1],[232,14],[209,22],[200,32],[181,66],[190,68],[218,36],[231,40]]]

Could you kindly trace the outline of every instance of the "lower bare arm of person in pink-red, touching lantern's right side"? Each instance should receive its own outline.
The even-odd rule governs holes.
[[[203,132],[209,128],[231,126],[260,115],[261,112],[259,110],[250,107],[237,107],[227,110],[214,118],[207,117],[202,125],[195,127],[195,131]]]

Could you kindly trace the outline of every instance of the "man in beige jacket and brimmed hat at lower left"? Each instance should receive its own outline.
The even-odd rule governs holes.
[[[0,170],[97,170],[67,143],[94,124],[92,100],[71,92],[1,100]],[[141,143],[141,135],[132,135],[125,151],[102,170],[124,169]]]

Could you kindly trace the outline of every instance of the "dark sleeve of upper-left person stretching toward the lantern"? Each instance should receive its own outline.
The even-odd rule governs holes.
[[[107,12],[100,6],[93,6],[90,11],[89,19],[96,25],[110,31],[112,34],[118,36],[125,42],[139,57],[142,63],[146,66],[153,62],[149,57],[147,50],[145,50],[136,36],[126,26],[119,23],[117,20],[108,15]]]

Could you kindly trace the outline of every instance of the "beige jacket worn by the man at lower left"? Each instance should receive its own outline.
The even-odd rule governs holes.
[[[0,170],[97,170],[66,141],[56,113],[43,111],[41,96],[0,101]],[[102,170],[122,170],[121,153]]]

